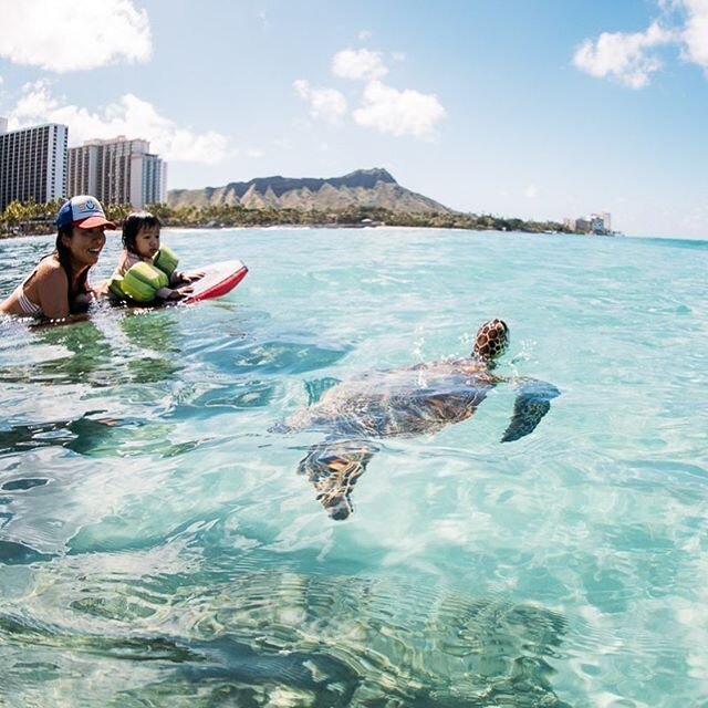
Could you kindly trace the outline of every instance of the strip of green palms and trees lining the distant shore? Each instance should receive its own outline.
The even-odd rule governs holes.
[[[54,218],[62,200],[38,204],[35,201],[11,201],[0,215],[0,237],[52,233]],[[108,219],[121,223],[132,211],[128,204],[104,205]],[[568,227],[556,221],[525,221],[489,214],[465,214],[459,211],[393,211],[381,207],[348,207],[345,209],[247,209],[240,205],[168,206],[146,207],[164,226],[184,228],[225,227],[372,227],[399,226],[438,229],[470,229],[485,231],[525,231],[531,233],[565,232]]]

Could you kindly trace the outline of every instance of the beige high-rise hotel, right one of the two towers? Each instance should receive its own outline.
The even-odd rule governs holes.
[[[140,209],[166,201],[167,164],[149,152],[147,140],[87,140],[69,148],[67,189],[72,195],[94,195],[103,204]]]

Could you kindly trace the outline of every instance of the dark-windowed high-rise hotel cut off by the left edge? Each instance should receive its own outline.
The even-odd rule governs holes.
[[[14,199],[43,204],[66,196],[67,139],[65,125],[8,132],[0,118],[0,212]]]

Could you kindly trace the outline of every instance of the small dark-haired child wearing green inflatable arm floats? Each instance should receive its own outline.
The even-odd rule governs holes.
[[[153,302],[181,300],[189,283],[204,275],[177,270],[178,259],[160,246],[159,219],[149,211],[133,211],[123,223],[123,252],[108,290],[121,300]]]

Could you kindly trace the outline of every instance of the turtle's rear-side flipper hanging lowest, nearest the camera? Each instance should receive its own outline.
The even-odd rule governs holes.
[[[317,491],[317,501],[337,521],[354,511],[350,494],[378,447],[368,440],[332,440],[313,445],[298,466]]]

